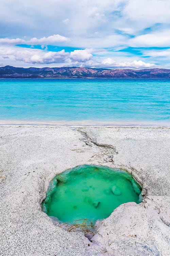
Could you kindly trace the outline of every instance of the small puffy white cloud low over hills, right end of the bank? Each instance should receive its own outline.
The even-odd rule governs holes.
[[[104,67],[121,67],[121,68],[135,68],[135,69],[139,69],[139,68],[155,68],[156,65],[153,63],[146,63],[144,61],[141,60],[133,60],[131,62],[117,62],[111,58],[107,58],[104,59],[102,61],[102,64]]]

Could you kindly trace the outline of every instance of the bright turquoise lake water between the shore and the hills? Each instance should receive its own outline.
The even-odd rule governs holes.
[[[170,80],[0,79],[0,119],[168,124]]]

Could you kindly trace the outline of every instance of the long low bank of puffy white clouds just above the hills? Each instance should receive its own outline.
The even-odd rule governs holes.
[[[99,51],[103,51],[102,49]],[[145,63],[141,60],[118,61],[112,58],[101,59],[93,56],[96,53],[94,49],[75,50],[71,53],[63,49],[59,52],[51,52],[40,49],[21,48],[21,47],[0,47],[0,61],[30,63],[34,65],[57,64],[61,66],[78,66],[78,67],[102,67],[102,68],[154,68],[153,63]],[[118,58],[118,57],[117,57]],[[131,59],[131,58],[129,58]],[[129,60],[128,59],[128,60]],[[8,64],[8,65],[9,65]],[[7,64],[6,64],[7,65]],[[53,65],[54,66],[54,65]]]

